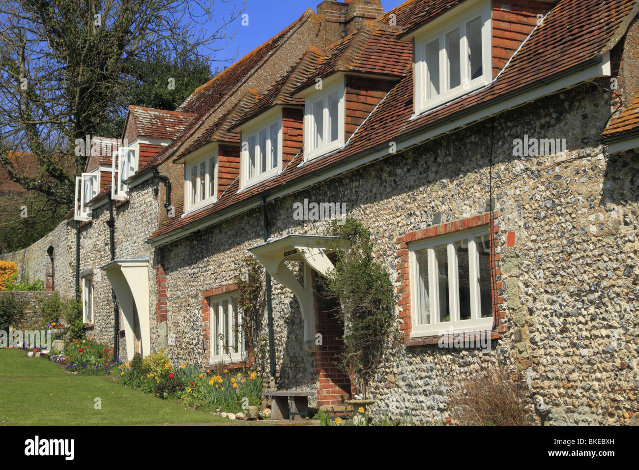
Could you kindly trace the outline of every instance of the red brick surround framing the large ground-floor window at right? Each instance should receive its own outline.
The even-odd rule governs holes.
[[[413,333],[413,323],[417,325],[416,318],[413,318],[413,312],[417,315],[417,309],[419,308],[417,305],[412,306],[411,299],[411,269],[416,269],[415,266],[411,266],[410,264],[410,249],[409,247],[415,247],[415,242],[420,242],[422,240],[433,239],[436,240],[436,237],[442,237],[445,239],[446,235],[454,235],[459,232],[460,238],[463,237],[463,231],[468,231],[472,229],[481,229],[484,227],[486,232],[488,233],[488,243],[489,243],[489,269],[490,269],[490,283],[491,283],[491,306],[493,313],[493,327],[491,328],[491,339],[497,339],[499,337],[499,333],[505,331],[505,326],[498,326],[495,328],[495,324],[498,324],[500,318],[504,318],[503,311],[503,303],[504,297],[500,295],[502,290],[502,281],[501,275],[502,270],[500,267],[501,255],[500,253],[496,253],[496,248],[499,246],[500,240],[497,238],[497,234],[499,233],[499,225],[495,224],[495,219],[491,221],[491,214],[486,213],[482,215],[477,215],[475,217],[470,217],[468,219],[463,219],[461,221],[451,222],[447,224],[442,224],[438,226],[433,226],[426,228],[424,230],[417,230],[406,233],[402,237],[398,237],[396,242],[398,245],[397,250],[397,258],[399,262],[397,263],[397,272],[399,272],[398,280],[400,281],[400,286],[397,288],[397,294],[399,294],[399,318],[402,320],[402,324],[399,329],[403,332],[404,336],[402,341],[404,345],[408,346],[420,346],[420,345],[429,345],[436,344],[438,340],[443,336],[439,332],[427,332],[424,334],[412,334]],[[461,276],[461,274],[460,274]],[[417,302],[415,302],[417,303]],[[452,311],[452,310],[451,310]],[[433,313],[434,314],[434,313]],[[442,330],[447,331],[448,326],[442,328]],[[479,331],[484,330],[485,328],[478,329],[478,331],[469,331],[465,333],[465,336],[470,338],[476,338],[479,340]]]

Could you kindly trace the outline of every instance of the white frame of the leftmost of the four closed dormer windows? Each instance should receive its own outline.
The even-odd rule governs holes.
[[[204,175],[200,174],[201,163],[204,162]],[[211,166],[213,166],[213,181],[211,181]],[[196,187],[194,188],[191,180],[192,168],[197,168]],[[185,213],[193,212],[206,207],[217,201],[217,186],[219,169],[219,147],[216,145],[213,152],[206,152],[204,156],[196,156],[187,159],[184,162],[184,207]],[[204,190],[206,194],[201,194],[201,178],[204,176]],[[213,184],[213,194],[210,194],[210,185]],[[195,202],[192,201],[193,191],[195,190]]]

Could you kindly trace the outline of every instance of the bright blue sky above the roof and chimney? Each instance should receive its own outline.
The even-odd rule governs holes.
[[[384,10],[388,12],[404,0],[381,0]],[[219,53],[219,58],[229,58],[238,51],[236,59],[242,58],[261,43],[277,35],[293,21],[302,16],[307,9],[317,10],[321,0],[247,0],[246,11],[249,15],[249,26],[242,26],[241,20],[233,22],[229,33],[237,30],[235,38],[229,41],[226,49]],[[238,1],[241,4],[241,1]],[[229,5],[215,3],[219,13],[229,10]],[[216,12],[217,13],[217,12]],[[213,63],[215,66],[224,67],[230,63]]]

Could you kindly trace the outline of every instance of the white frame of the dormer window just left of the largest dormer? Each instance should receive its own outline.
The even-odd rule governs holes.
[[[329,152],[337,150],[344,146],[344,129],[345,129],[345,116],[346,116],[346,101],[344,98],[344,76],[339,75],[337,82],[332,82],[330,79],[323,81],[323,90],[309,91],[305,96],[304,104],[304,160],[312,160],[321,155],[326,155]],[[325,137],[329,129],[329,123],[331,117],[328,109],[328,97],[337,92],[339,97],[339,104],[337,106],[337,139],[331,143],[325,143]],[[315,118],[313,116],[313,104],[318,100],[323,100],[323,139],[319,143],[317,148],[313,148],[313,137],[315,129]]]

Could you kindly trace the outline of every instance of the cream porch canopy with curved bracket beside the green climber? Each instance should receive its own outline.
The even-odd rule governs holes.
[[[249,252],[258,259],[273,279],[295,294],[304,319],[304,347],[311,352],[318,349],[315,343],[311,269],[327,276],[328,272],[334,268],[327,256],[330,251],[327,242],[331,239],[336,237],[287,235],[281,239],[269,239],[265,244],[249,249]],[[347,246],[348,240],[343,240],[342,245]],[[304,285],[288,269],[286,261],[304,262]]]

